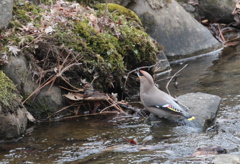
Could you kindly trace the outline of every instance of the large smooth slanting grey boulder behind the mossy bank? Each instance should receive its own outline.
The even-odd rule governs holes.
[[[217,48],[219,42],[175,0],[137,0],[128,6],[148,34],[164,46],[169,59],[186,58]]]

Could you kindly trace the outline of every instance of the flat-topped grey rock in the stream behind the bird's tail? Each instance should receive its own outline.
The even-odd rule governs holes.
[[[188,93],[177,100],[189,108],[189,113],[196,117],[201,128],[205,129],[214,121],[221,98],[207,93]]]

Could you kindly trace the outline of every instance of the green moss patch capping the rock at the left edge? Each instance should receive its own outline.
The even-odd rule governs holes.
[[[13,101],[16,101],[16,87],[13,82],[0,71],[0,103],[4,108],[10,108]]]

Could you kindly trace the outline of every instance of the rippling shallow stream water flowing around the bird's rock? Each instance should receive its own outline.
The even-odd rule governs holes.
[[[222,98],[218,126],[209,132],[167,123],[152,126],[144,118],[113,114],[82,117],[31,126],[16,142],[0,144],[0,164],[5,163],[211,163],[216,156],[195,156],[197,148],[221,147],[240,153],[240,53],[225,48],[201,58],[173,64],[172,74],[183,67],[178,96],[204,92]],[[159,82],[163,90],[166,81]],[[136,145],[126,140],[134,139]]]

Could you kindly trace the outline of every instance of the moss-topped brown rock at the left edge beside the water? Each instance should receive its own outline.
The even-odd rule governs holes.
[[[27,126],[27,110],[13,82],[0,71],[0,140],[20,137]]]

